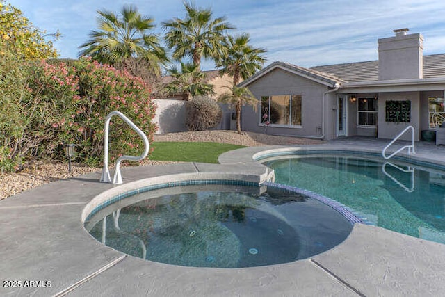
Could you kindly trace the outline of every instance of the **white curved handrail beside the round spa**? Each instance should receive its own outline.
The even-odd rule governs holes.
[[[131,122],[131,120],[129,120],[129,118],[127,118],[123,113],[121,113],[120,111],[111,111],[111,113],[108,113],[108,115],[106,116],[104,127],[104,169],[102,170],[100,182],[111,182],[110,171],[108,170],[108,130],[110,126],[110,120],[113,115],[118,115],[118,117],[122,118],[122,120],[124,120],[124,122],[126,122],[131,127],[131,129],[136,131],[136,133],[139,134],[139,136],[143,139],[145,146],[144,152],[140,156],[120,156],[116,161],[113,184],[122,184],[122,175],[120,174],[120,162],[122,162],[123,160],[140,161],[144,159],[149,151],[149,143],[148,138],[144,134],[144,132],[140,130],[136,125],[134,125],[134,123]]]

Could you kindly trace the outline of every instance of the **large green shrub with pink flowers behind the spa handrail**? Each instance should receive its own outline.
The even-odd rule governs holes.
[[[25,137],[17,154],[26,160],[63,159],[64,145],[76,145],[76,161],[99,165],[102,160],[104,121],[121,111],[152,140],[156,106],[145,83],[128,72],[81,58],[72,63],[39,61],[27,68],[29,96],[17,102]],[[9,145],[11,147],[11,145]],[[110,125],[110,159],[140,154],[143,142],[127,124],[113,118]],[[0,167],[6,162],[0,150]],[[3,160],[3,159],[5,160]],[[8,166],[7,170],[13,169]]]

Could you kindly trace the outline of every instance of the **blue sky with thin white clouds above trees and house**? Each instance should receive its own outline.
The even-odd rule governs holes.
[[[6,0],[39,29],[60,31],[55,42],[60,58],[76,58],[79,45],[97,29],[97,10],[119,12],[124,4],[153,17],[154,32],[161,22],[184,17],[181,0]],[[234,33],[250,33],[254,47],[267,49],[266,65],[284,61],[303,67],[377,60],[378,38],[391,37],[393,29],[422,33],[423,54],[445,52],[445,1],[443,0],[196,0],[225,16]],[[204,61],[204,70],[213,63]]]

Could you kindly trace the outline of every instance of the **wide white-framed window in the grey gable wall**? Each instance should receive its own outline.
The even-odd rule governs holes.
[[[301,95],[261,96],[259,122],[264,125],[301,126]]]

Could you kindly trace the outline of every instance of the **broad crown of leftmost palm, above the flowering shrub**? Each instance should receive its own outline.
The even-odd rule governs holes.
[[[79,56],[91,56],[109,64],[142,58],[157,68],[159,63],[168,61],[158,36],[147,33],[154,29],[154,19],[141,16],[135,6],[124,6],[122,17],[106,10],[97,13],[100,31],[91,31],[90,40],[79,47],[83,49]]]

